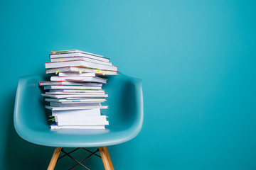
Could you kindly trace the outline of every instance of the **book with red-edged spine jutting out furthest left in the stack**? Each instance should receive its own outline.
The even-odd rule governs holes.
[[[102,86],[101,83],[84,83],[84,82],[74,82],[74,81],[40,81],[39,86]]]

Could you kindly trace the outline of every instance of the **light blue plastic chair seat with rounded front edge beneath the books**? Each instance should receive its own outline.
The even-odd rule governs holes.
[[[137,135],[134,134],[136,130],[136,127],[127,130],[50,130],[46,126],[42,129],[28,129],[19,135],[28,142],[50,147],[99,147],[131,140]]]

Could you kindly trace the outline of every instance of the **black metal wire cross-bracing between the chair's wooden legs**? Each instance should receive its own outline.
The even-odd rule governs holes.
[[[84,149],[85,151],[90,152],[90,155],[87,156],[85,159],[82,159],[82,161],[79,162],[77,159],[75,159],[74,157],[72,157],[72,156],[70,155],[72,152],[75,152],[75,151],[77,151],[78,149]],[[74,166],[72,166],[70,169],[74,169],[76,166],[80,165],[80,166],[84,167],[85,169],[90,170],[90,169],[88,169],[85,165],[83,165],[82,162],[84,162],[86,159],[92,157],[92,155],[95,155],[95,156],[97,156],[97,157],[100,157],[100,155],[96,154],[97,152],[99,152],[99,148],[97,148],[95,152],[91,152],[90,150],[85,149],[85,148],[83,148],[83,147],[78,147],[78,148],[73,149],[72,151],[70,151],[70,152],[68,152],[68,153],[65,152],[63,148],[61,148],[61,152],[63,152],[64,155],[63,155],[62,157],[59,157],[58,160],[59,160],[59,159],[62,159],[62,158],[65,157],[65,156],[68,156],[68,157],[70,157],[71,159],[73,159],[73,161],[75,161],[75,162],[77,163],[77,164],[75,164]],[[101,158],[101,157],[100,157],[100,158]]]

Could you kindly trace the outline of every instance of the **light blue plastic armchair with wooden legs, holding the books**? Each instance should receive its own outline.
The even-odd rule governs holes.
[[[38,86],[39,81],[49,80],[49,76],[37,74],[18,80],[14,127],[18,135],[28,142],[56,147],[48,169],[54,169],[60,152],[70,157],[63,147],[97,147],[91,155],[100,151],[100,155],[96,155],[102,158],[105,169],[114,169],[107,146],[127,142],[139,134],[143,123],[142,81],[120,72],[119,76],[109,76],[107,79],[107,84],[102,87],[109,95],[104,103],[109,109],[102,111],[109,117],[110,125],[106,126],[106,130],[50,130],[42,89]],[[84,160],[74,160],[77,165],[84,166]]]

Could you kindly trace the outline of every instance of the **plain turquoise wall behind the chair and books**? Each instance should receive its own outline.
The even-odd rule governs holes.
[[[50,50],[67,49],[105,55],[143,79],[144,125],[134,140],[109,147],[115,169],[256,169],[255,8],[255,1],[1,1],[0,169],[48,166],[53,148],[14,130],[16,84],[45,72]],[[103,169],[97,157],[87,165]]]

